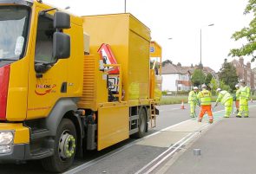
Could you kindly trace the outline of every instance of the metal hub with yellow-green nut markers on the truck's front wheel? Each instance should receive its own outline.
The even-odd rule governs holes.
[[[63,132],[59,141],[59,152],[61,158],[70,158],[75,153],[75,138],[68,132]]]

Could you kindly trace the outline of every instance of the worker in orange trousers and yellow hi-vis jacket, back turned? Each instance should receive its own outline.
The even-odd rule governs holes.
[[[198,121],[201,122],[204,114],[207,112],[209,117],[209,123],[213,123],[213,113],[212,113],[212,93],[207,90],[207,86],[203,84],[202,91],[197,94],[197,98],[200,100],[200,114]]]

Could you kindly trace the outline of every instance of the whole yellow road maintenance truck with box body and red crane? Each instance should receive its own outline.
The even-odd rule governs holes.
[[[0,161],[42,159],[62,172],[82,151],[141,138],[155,124],[160,74],[135,16],[0,0],[0,33]]]

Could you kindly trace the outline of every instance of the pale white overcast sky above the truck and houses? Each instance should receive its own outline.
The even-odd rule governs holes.
[[[248,0],[126,0],[126,11],[151,30],[153,41],[162,48],[162,60],[182,66],[199,64],[218,72],[231,48],[246,41],[234,42],[232,34],[250,23],[244,15]],[[125,0],[43,0],[60,8],[70,7],[77,16],[123,13]],[[214,24],[208,27],[209,24]],[[200,49],[200,30],[201,44]],[[169,39],[172,38],[172,39]],[[244,57],[250,61],[250,57]],[[236,59],[239,59],[236,57]],[[255,67],[255,63],[252,64]]]

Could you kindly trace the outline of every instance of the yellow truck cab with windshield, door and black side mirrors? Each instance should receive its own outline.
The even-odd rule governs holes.
[[[69,118],[82,96],[82,19],[41,1],[1,0],[0,31],[0,160],[50,157],[57,115]]]

